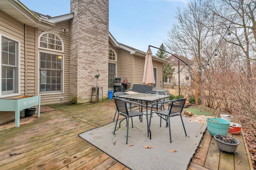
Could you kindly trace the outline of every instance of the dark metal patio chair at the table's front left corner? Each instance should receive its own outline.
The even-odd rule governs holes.
[[[118,117],[119,115],[123,115],[126,119],[126,144],[128,143],[128,133],[129,133],[129,118],[130,117],[134,117],[134,116],[142,116],[142,115],[146,115],[146,119],[147,119],[147,131],[148,131],[148,136],[149,136],[149,123],[148,123],[148,109],[145,105],[143,104],[138,104],[136,102],[132,102],[132,101],[129,101],[129,100],[124,100],[124,99],[121,99],[121,98],[115,98],[114,97],[114,100],[115,100],[115,104],[116,104],[116,109],[118,111],[118,115],[117,115],[117,119],[116,119],[116,125],[117,125],[117,122],[118,122]],[[140,112],[140,111],[136,111],[136,109],[128,109],[127,107],[127,104],[138,104],[140,107],[144,107],[146,111],[144,112]],[[122,121],[122,120],[120,120]],[[116,133],[116,125],[115,125],[115,129],[114,129],[114,132],[113,134],[115,135]]]

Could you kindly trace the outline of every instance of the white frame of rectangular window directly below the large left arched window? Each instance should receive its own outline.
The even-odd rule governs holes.
[[[62,74],[61,74],[61,92],[58,92],[58,91],[40,91],[40,62],[41,62],[41,57],[40,57],[40,53],[47,53],[47,54],[51,54],[51,55],[60,55],[62,56]],[[38,51],[38,92],[40,95],[49,95],[49,94],[64,94],[64,59],[65,59],[65,56],[64,54],[61,54],[61,53],[51,53],[51,52],[46,52],[46,51]]]

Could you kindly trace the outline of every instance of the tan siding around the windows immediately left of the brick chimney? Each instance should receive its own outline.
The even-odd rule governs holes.
[[[63,42],[64,42],[64,53],[63,52],[56,52],[56,51],[50,51],[45,49],[38,49],[38,51],[46,52],[46,53],[54,53],[54,54],[60,54],[64,55],[64,88],[62,94],[42,94],[41,95],[41,105],[47,105],[47,104],[56,104],[56,103],[64,103],[69,102],[69,84],[70,84],[70,34],[68,33],[61,33],[60,30],[63,28],[70,29],[70,21],[65,21],[63,23],[58,23],[55,25],[55,27],[52,27],[49,31],[54,32],[58,34]],[[38,30],[38,36],[42,33],[41,30]],[[38,40],[37,40],[38,41]],[[39,44],[38,44],[39,45]],[[36,54],[36,55],[39,55]],[[39,59],[39,58],[38,58]],[[36,74],[39,74],[39,66],[36,70]],[[39,83],[38,83],[39,86]],[[63,97],[63,100],[59,100],[60,97]]]

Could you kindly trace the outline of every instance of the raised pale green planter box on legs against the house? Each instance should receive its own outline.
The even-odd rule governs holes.
[[[24,117],[24,109],[38,106],[37,117],[40,116],[40,97],[41,96],[17,96],[0,99],[0,111],[15,111],[15,127],[19,127],[20,111],[22,111],[22,117]]]

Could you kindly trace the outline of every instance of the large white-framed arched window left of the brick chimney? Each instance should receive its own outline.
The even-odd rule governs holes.
[[[41,49],[64,52],[63,46],[63,40],[53,32],[43,32],[39,36],[39,48]]]

